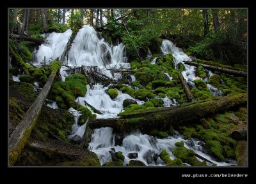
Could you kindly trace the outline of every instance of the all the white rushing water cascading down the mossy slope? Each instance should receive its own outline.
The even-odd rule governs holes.
[[[67,44],[68,38],[71,35],[71,31],[68,30],[62,34],[51,33],[47,36],[47,44],[41,45],[38,51],[35,51],[35,64],[40,64],[44,61],[44,56],[48,59],[56,59],[60,57],[61,52],[65,45]],[[173,45],[172,41],[166,39],[163,40],[161,45],[161,50],[163,54],[172,53],[175,67],[179,62],[184,64],[184,61],[191,60],[186,53],[184,53],[180,48]],[[148,50],[148,57],[151,57],[150,50]],[[152,60],[152,64],[156,64],[156,59]],[[92,70],[99,74],[111,78],[113,81],[122,78],[122,73],[111,72],[111,69],[129,69],[130,64],[127,63],[127,57],[125,55],[125,46],[122,43],[118,45],[109,45],[104,41],[103,38],[99,39],[97,32],[90,26],[84,25],[82,29],[77,32],[74,43],[72,44],[70,51],[68,52],[68,59],[65,60],[65,64],[69,67],[79,67],[86,66],[88,73]],[[95,67],[94,67],[95,66]],[[195,79],[200,79],[195,75],[195,67],[188,66],[184,64],[185,71],[182,72],[184,78],[188,81],[189,85],[195,85],[193,81]],[[61,80],[65,81],[65,77],[68,76],[67,70],[68,67],[61,66],[60,74]],[[209,75],[211,75],[209,71]],[[172,80],[172,77],[166,73],[166,76],[169,80]],[[134,75],[130,76],[130,81],[135,81],[136,78]],[[138,104],[143,104],[143,101],[138,101],[128,94],[123,94],[118,90],[118,96],[115,99],[111,99],[106,93],[108,86],[104,86],[100,83],[95,83],[94,85],[87,85],[87,92],[84,97],[77,97],[76,102],[82,104],[89,110],[92,110],[90,106],[93,106],[100,113],[95,113],[97,118],[116,118],[118,113],[123,111],[122,103],[124,99],[132,99]],[[214,96],[220,96],[221,92],[217,88],[207,85],[211,90]],[[168,97],[160,98],[164,102],[164,107],[170,107],[177,105],[178,102],[175,99],[170,99]],[[90,106],[88,105],[90,104]],[[54,108],[54,104],[49,104]],[[83,125],[78,125],[78,119],[81,116],[79,111],[70,108],[70,113],[75,117],[74,125],[72,126],[72,134],[68,136],[68,139],[83,137],[86,123]],[[93,111],[92,111],[93,112]],[[178,132],[175,136],[169,136],[165,139],[157,139],[153,136],[148,136],[146,134],[141,134],[141,132],[136,131],[131,134],[125,135],[122,143],[116,145],[116,134],[113,133],[113,129],[106,127],[95,129],[92,134],[91,142],[88,146],[88,149],[97,153],[100,164],[111,161],[111,148],[115,148],[115,152],[121,151],[125,156],[124,165],[129,163],[131,160],[128,155],[129,153],[138,154],[138,157],[134,158],[135,160],[140,160],[144,162],[147,166],[166,166],[164,162],[159,159],[158,155],[161,150],[165,149],[169,154],[171,159],[175,159],[175,156],[172,154],[173,149],[175,148],[175,142],[184,141],[185,147],[191,150],[194,150],[199,155],[202,155],[206,159],[211,160],[216,163],[217,166],[231,166],[236,164],[234,160],[229,160],[226,162],[216,162],[212,157],[205,153],[204,148],[202,148],[202,143],[199,140],[191,139],[185,140]],[[200,159],[199,159],[200,160]],[[187,164],[188,165],[188,164]]]

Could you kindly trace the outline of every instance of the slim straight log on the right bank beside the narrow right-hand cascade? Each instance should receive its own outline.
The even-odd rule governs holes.
[[[244,71],[237,71],[234,69],[227,69],[225,67],[218,67],[218,66],[211,66],[208,64],[201,64],[198,62],[192,62],[192,61],[185,61],[185,64],[191,65],[191,66],[202,66],[205,69],[211,69],[212,71],[220,71],[221,73],[227,73],[227,74],[234,74],[237,76],[244,76],[247,77],[247,73]]]

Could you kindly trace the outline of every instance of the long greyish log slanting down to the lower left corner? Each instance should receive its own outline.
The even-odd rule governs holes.
[[[36,100],[31,105],[29,110],[26,112],[26,115],[19,122],[17,127],[14,129],[10,135],[9,143],[9,164],[13,166],[17,159],[19,158],[21,150],[26,145],[30,133],[35,125],[35,122],[40,114],[42,105],[51,89],[52,82],[56,76],[57,71],[52,71],[47,83],[45,83],[44,88],[41,90]]]

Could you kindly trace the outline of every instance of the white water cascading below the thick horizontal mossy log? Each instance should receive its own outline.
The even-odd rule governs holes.
[[[116,146],[115,145],[115,134],[113,134],[112,128],[100,128],[95,129],[95,132],[92,136],[92,141],[89,145],[89,149],[93,152],[97,153],[100,159],[100,164],[104,164],[106,162],[111,161],[111,155],[109,151],[111,148],[115,148],[115,151],[122,152],[125,156],[124,165],[128,164],[131,159],[127,157],[128,153],[138,153],[138,157],[134,160],[140,160],[147,166],[166,166],[161,159],[157,159],[156,161],[150,159],[152,155],[156,153],[159,155],[161,150],[166,150],[171,159],[175,159],[172,151],[176,147],[174,144],[178,141],[184,141],[185,147],[191,150],[194,150],[202,157],[211,160],[217,166],[231,166],[236,164],[235,162],[230,161],[230,163],[225,162],[216,162],[216,160],[212,159],[209,155],[206,155],[202,152],[202,146],[198,145],[200,141],[192,140],[185,140],[180,135],[176,136],[169,136],[165,139],[157,139],[153,136],[148,136],[147,134],[141,134],[140,132],[133,132],[125,136],[122,141],[122,145]],[[149,153],[149,157],[145,158],[145,154]]]

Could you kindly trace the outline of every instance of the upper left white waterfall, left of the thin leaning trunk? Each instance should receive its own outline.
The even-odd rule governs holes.
[[[35,53],[35,61],[33,64],[35,66],[44,64],[44,57],[46,64],[52,62],[52,60],[61,57],[61,54],[64,51],[65,46],[68,43],[68,38],[71,36],[72,30],[68,29],[63,33],[52,32],[47,36],[46,43],[39,46]],[[45,37],[45,34],[42,36]]]

